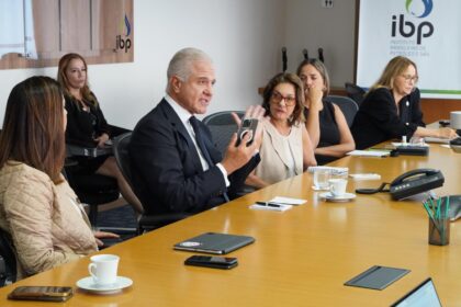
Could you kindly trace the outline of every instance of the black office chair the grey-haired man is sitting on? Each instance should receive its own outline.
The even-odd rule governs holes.
[[[119,164],[120,170],[122,171],[126,182],[130,184],[133,191],[133,180],[132,180],[132,168],[131,160],[128,155],[128,145],[132,137],[132,133],[125,133],[117,136],[113,139],[113,152],[115,156],[116,163]],[[168,224],[178,221],[185,217],[189,217],[189,214],[184,213],[172,213],[172,214],[158,214],[158,215],[145,215],[143,214],[138,221],[138,234],[150,231]]]

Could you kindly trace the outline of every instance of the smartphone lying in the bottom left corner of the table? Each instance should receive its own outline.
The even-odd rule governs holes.
[[[9,299],[66,302],[72,297],[72,287],[57,286],[19,286],[9,295]]]

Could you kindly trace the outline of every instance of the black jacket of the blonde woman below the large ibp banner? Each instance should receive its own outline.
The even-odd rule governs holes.
[[[418,89],[401,100],[397,113],[392,91],[379,88],[366,95],[350,130],[356,148],[364,149],[402,136],[409,140],[418,126],[425,126]]]

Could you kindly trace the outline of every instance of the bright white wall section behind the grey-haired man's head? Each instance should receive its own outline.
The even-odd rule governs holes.
[[[108,121],[133,128],[162,98],[172,55],[189,46],[202,48],[215,62],[217,83],[209,113],[260,103],[258,87],[280,70],[280,12],[283,0],[135,0],[134,62],[89,67],[91,88]],[[56,71],[0,70],[0,121],[15,83],[33,75],[55,77]]]

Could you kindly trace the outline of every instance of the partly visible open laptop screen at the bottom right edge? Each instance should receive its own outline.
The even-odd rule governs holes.
[[[440,298],[437,294],[432,278],[427,278],[417,287],[407,293],[404,297],[395,302],[391,307],[441,307]]]

